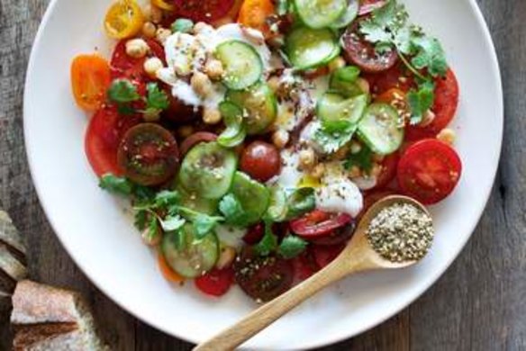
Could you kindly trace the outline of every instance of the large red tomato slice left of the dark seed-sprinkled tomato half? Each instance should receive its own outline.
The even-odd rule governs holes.
[[[136,116],[121,118],[116,108],[110,106],[95,112],[86,130],[85,148],[96,175],[123,175],[117,162],[117,149],[124,133],[139,121]]]

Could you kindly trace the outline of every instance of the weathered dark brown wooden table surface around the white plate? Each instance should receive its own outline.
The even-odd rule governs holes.
[[[32,40],[48,2],[0,0],[0,208],[28,239],[32,279],[84,293],[115,350],[188,350],[191,345],[134,319],[97,291],[41,210],[23,146],[22,105]],[[478,3],[500,59],[506,109],[503,157],[485,215],[460,257],[422,298],[326,350],[526,350],[526,1]],[[4,335],[0,349],[9,349],[8,342]]]

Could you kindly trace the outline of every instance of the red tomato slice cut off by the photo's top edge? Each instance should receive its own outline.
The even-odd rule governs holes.
[[[175,0],[176,11],[181,17],[194,22],[213,23],[230,13],[234,0]]]

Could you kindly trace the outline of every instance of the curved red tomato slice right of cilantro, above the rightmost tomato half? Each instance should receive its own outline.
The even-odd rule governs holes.
[[[455,117],[458,108],[458,80],[455,73],[449,69],[444,77],[435,80],[435,103],[431,109],[435,119],[424,127],[408,126],[405,130],[405,139],[420,140],[435,138]]]

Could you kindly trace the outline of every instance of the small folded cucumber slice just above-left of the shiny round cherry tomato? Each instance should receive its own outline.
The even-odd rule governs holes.
[[[224,121],[226,129],[217,138],[217,142],[225,148],[237,147],[247,136],[247,131],[243,125],[243,111],[240,106],[228,101],[219,104],[219,111],[222,114],[222,121]]]

